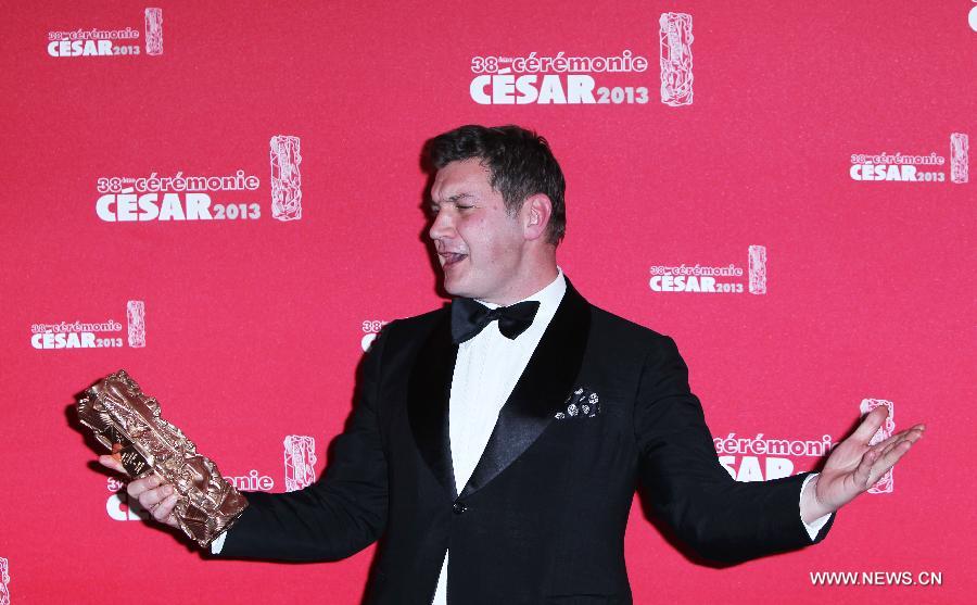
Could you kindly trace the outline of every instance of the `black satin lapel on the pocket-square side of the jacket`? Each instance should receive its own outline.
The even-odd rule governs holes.
[[[556,315],[543,332],[498,420],[461,497],[485,487],[533,444],[549,426],[580,374],[591,307],[570,280]]]

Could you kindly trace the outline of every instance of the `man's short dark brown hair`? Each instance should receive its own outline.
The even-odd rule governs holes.
[[[515,125],[461,126],[430,139],[424,144],[428,169],[439,171],[452,162],[478,159],[488,168],[488,185],[502,193],[506,212],[515,215],[522,202],[545,193],[553,203],[546,227],[547,242],[556,245],[567,231],[563,172],[546,139]]]

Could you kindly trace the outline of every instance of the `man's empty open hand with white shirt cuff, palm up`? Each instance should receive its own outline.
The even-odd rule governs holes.
[[[923,437],[926,427],[916,425],[868,445],[888,415],[888,407],[876,407],[848,439],[832,450],[821,475],[808,484],[801,496],[804,522],[834,513],[868,490]]]

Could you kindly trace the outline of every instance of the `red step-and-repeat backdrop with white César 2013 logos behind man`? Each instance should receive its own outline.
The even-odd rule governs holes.
[[[3,9],[0,603],[360,602],[340,563],[213,560],[94,463],[125,368],[244,490],[321,476],[388,322],[444,302],[423,141],[545,136],[559,262],[675,339],[720,463],[924,440],[824,543],[715,567],[636,499],[636,603],[960,603],[974,389],[977,3],[54,2]]]

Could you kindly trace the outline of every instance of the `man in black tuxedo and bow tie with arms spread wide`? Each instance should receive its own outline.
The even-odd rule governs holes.
[[[546,141],[465,126],[426,154],[454,302],[386,326],[323,478],[248,494],[220,556],[334,560],[379,539],[368,603],[630,603],[638,482],[700,554],[744,560],[823,539],[922,436],[868,448],[876,409],[821,475],[733,481],[672,340],[589,305],[557,266],[564,185]],[[170,487],[128,492],[174,525]]]

